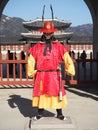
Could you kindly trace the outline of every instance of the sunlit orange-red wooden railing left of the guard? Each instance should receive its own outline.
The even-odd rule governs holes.
[[[2,57],[2,54],[0,54]],[[25,64],[25,72],[22,64]],[[17,67],[17,68],[16,68]],[[12,73],[10,74],[10,72]],[[0,60],[0,85],[33,85],[33,79],[28,78],[27,75],[27,56],[25,60],[21,57],[19,60],[15,59],[13,53],[12,59]]]

